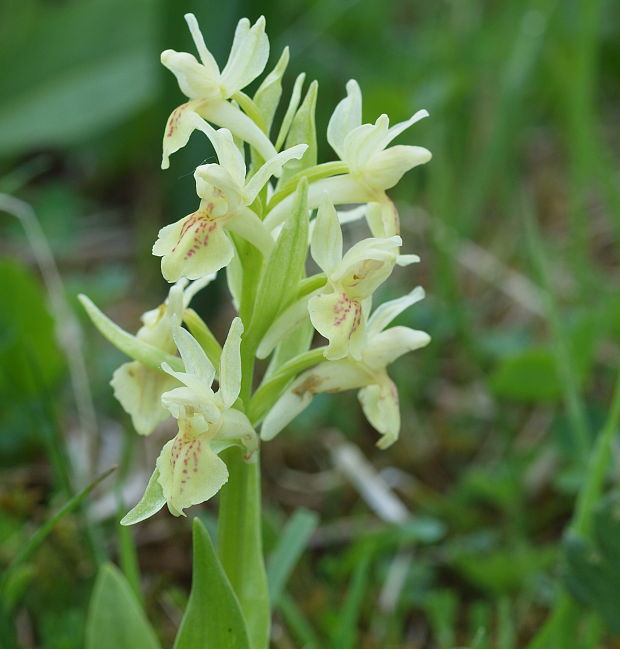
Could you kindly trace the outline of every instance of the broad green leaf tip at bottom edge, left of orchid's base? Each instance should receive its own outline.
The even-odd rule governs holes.
[[[153,628],[123,574],[99,570],[86,622],[86,649],[159,649]]]

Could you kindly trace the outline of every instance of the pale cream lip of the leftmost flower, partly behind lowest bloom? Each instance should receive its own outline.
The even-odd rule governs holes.
[[[112,375],[110,385],[123,410],[131,416],[140,435],[148,435],[170,413],[161,404],[161,395],[178,386],[178,381],[138,361],[123,363]]]

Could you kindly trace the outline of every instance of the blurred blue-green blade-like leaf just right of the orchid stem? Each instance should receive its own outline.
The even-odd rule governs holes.
[[[299,561],[308,540],[316,529],[318,516],[307,509],[298,509],[282,530],[267,566],[267,582],[272,606],[276,607],[286,581]]]

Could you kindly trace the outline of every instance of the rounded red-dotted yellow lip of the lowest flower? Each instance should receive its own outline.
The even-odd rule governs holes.
[[[158,482],[174,516],[185,516],[186,507],[208,500],[228,480],[226,464],[213,452],[209,437],[193,435],[191,430],[179,431],[164,446],[157,468]]]

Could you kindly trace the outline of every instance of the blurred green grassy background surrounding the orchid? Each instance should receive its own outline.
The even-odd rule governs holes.
[[[0,192],[36,212],[63,281],[51,280],[57,328],[65,349],[82,340],[96,412],[87,384],[69,381],[70,363],[74,376],[82,370],[56,342],[50,276],[46,288],[23,223],[3,212],[0,565],[87,477],[120,464],[94,506],[63,519],[15,585],[21,645],[83,646],[104,557],[120,561],[134,583],[139,563],[146,610],[168,645],[187,598],[188,521],[160,514],[130,532],[116,524],[170,431],[135,439],[108,385],[123,357],[76,300],[88,294],[134,331],[166,295],[152,242],[194,209],[192,172],[213,159],[194,136],[169,171],[159,169],[165,120],[183,101],[159,53],[193,52],[186,11],[221,63],[237,20],[265,15],[268,67],[291,48],[284,102],[299,72],[319,81],[320,161],[333,158],[324,133],[349,78],[361,85],[365,121],[431,114],[400,141],[426,146],[433,160],[391,193],[404,250],[422,263],[398,271],[380,299],[422,284],[426,300],[400,321],[427,330],[433,343],[392,370],[403,429],[388,451],[374,448],[354,394],[316,399],[265,446],[267,550],[296,508],[319,516],[282,598],[273,646],[525,646],[554,584],[566,575],[571,582],[562,531],[620,359],[613,0],[3,0]],[[64,300],[71,308],[63,315]],[[197,304],[225,332],[225,284]],[[409,522],[382,520],[337,469],[348,439]],[[214,507],[200,510],[208,524]],[[579,646],[620,646],[609,613],[610,599],[620,601],[618,567],[603,583],[579,565],[573,591],[583,620],[608,634]]]

